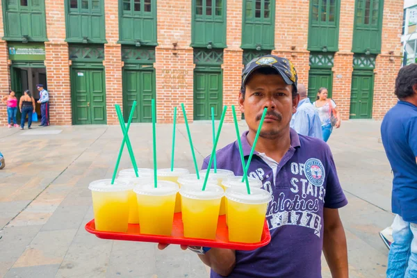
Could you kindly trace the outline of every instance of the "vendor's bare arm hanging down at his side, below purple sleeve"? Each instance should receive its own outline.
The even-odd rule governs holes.
[[[347,245],[345,230],[336,208],[325,208],[324,212],[323,252],[332,277],[349,277],[347,269]]]

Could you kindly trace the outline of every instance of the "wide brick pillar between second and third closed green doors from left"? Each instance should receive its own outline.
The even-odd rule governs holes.
[[[156,106],[158,123],[171,123],[174,106],[177,121],[183,122],[183,103],[188,122],[193,122],[193,48],[191,44],[191,4],[186,0],[156,1]],[[175,13],[175,16],[172,16]]]

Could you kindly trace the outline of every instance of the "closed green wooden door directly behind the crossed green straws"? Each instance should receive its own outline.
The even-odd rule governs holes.
[[[138,104],[132,122],[152,122],[152,99],[155,98],[154,70],[124,70],[123,115],[125,122],[129,119],[133,101]]]

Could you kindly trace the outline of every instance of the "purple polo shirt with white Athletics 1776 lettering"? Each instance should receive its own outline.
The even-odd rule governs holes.
[[[347,199],[329,146],[293,129],[290,134],[291,147],[279,162],[275,185],[271,167],[260,156],[252,157],[248,174],[272,193],[266,212],[271,242],[254,251],[236,251],[236,267],[229,277],[321,277],[323,208],[341,208]],[[247,162],[251,146],[246,136],[247,131],[242,136]],[[218,150],[216,157],[218,168],[243,174],[237,142]],[[212,270],[211,277],[222,276]]]

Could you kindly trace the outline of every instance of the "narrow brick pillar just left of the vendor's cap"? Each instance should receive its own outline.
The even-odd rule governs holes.
[[[243,50],[242,41],[242,0],[227,1],[227,49],[223,51],[223,105],[228,106],[225,122],[233,122],[231,106],[236,106],[240,120],[239,91],[242,83]]]

